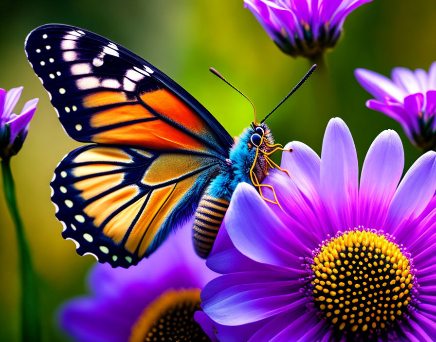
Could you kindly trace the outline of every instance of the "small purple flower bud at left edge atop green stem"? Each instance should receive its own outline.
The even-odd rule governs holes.
[[[10,158],[23,146],[29,131],[29,123],[36,110],[38,99],[28,101],[19,115],[12,113],[23,87],[8,92],[0,88],[0,158]]]

